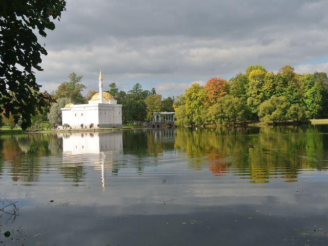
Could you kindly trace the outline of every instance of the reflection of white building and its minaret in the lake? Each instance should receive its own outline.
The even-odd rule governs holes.
[[[58,138],[63,138],[63,164],[101,169],[101,181],[105,190],[105,169],[108,168],[108,162],[110,163],[106,161],[106,157],[110,156],[111,152],[123,150],[122,132],[63,133],[58,134]]]

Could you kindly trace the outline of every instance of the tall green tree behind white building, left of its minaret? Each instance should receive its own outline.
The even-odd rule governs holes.
[[[85,85],[80,84],[83,76],[77,76],[72,72],[68,77],[70,81],[63,82],[58,86],[55,92],[55,98],[70,98],[74,104],[83,104],[85,98],[81,92],[86,88]]]

